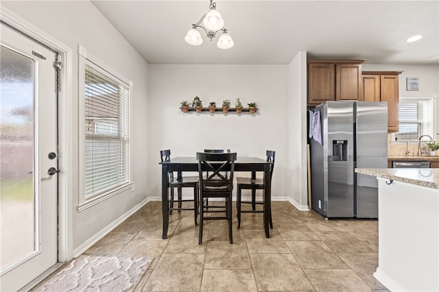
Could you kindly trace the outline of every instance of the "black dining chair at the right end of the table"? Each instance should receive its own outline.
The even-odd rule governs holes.
[[[273,177],[273,169],[274,169],[274,160],[276,156],[276,151],[267,150],[266,152],[267,161],[272,162],[270,165],[270,182]],[[236,208],[237,208],[237,219],[238,219],[238,228],[241,227],[241,213],[263,213],[270,212],[270,228],[273,229],[273,221],[272,221],[272,210],[257,210],[257,205],[264,206],[265,194],[262,193],[262,200],[257,201],[256,198],[256,190],[264,190],[265,185],[263,183],[263,178],[242,178],[237,177],[237,195],[236,195]],[[252,199],[251,201],[243,201],[242,200],[242,190],[251,190],[252,191]],[[251,210],[242,210],[241,204],[251,204]]]

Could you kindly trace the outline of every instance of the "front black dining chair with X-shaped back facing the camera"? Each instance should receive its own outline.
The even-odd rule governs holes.
[[[232,234],[232,191],[236,153],[197,153],[200,180],[200,231],[198,244],[202,244],[204,220],[226,219],[228,221],[228,241],[233,243]],[[225,176],[224,171],[228,171]],[[207,174],[209,173],[209,175]],[[206,208],[204,199],[224,199],[219,204]],[[216,202],[215,202],[216,203]],[[214,215],[215,213],[224,213]],[[208,216],[210,214],[210,216]]]

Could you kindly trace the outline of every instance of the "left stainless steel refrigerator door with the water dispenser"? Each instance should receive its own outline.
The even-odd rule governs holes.
[[[353,102],[327,101],[327,217],[354,217]]]

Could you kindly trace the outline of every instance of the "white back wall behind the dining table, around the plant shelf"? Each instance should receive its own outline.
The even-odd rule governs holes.
[[[224,99],[235,106],[256,101],[257,114],[222,112],[183,114],[180,101],[200,97],[204,106]],[[286,65],[148,65],[148,175],[147,195],[161,196],[159,151],[171,156],[195,156],[203,149],[230,149],[238,156],[265,158],[265,150],[276,151],[272,197],[287,197],[285,173],[290,168],[287,123],[289,110],[288,66]],[[235,195],[235,194],[234,194]]]

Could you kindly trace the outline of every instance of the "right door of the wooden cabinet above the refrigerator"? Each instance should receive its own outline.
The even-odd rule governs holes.
[[[361,64],[337,64],[335,80],[336,100],[361,100]]]

